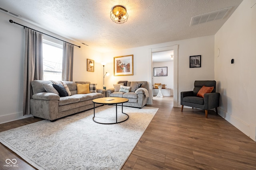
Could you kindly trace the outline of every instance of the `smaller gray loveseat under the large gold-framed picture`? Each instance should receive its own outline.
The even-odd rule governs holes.
[[[146,81],[137,81],[138,83],[142,83],[141,88],[144,88],[148,91],[148,82]],[[136,82],[129,82],[129,81],[119,81],[119,83],[124,83],[124,86],[132,87]],[[130,107],[138,107],[142,108],[148,102],[148,96],[146,96],[146,92],[142,89],[139,89],[136,93],[135,92],[114,92],[114,88],[110,88],[106,90],[106,97],[119,97],[119,98],[127,98],[129,99],[128,102],[124,103],[123,106],[130,106]]]

